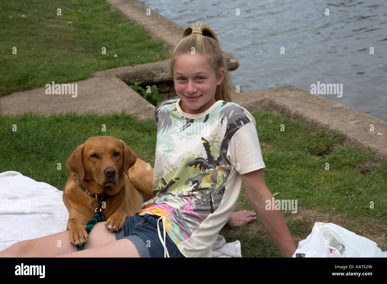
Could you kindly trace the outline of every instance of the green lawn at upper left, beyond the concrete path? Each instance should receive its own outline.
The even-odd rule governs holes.
[[[0,95],[169,56],[162,41],[101,0],[1,1],[0,25]]]

